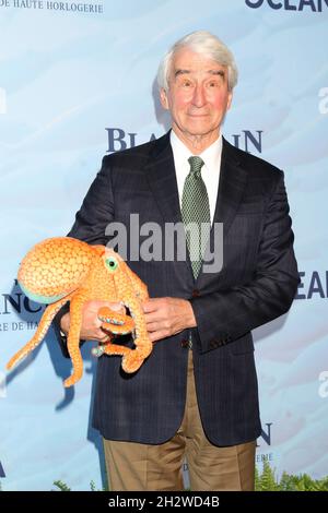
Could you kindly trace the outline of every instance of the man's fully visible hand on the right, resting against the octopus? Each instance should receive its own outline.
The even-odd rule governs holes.
[[[189,301],[179,298],[152,298],[143,302],[147,329],[151,342],[197,325]]]

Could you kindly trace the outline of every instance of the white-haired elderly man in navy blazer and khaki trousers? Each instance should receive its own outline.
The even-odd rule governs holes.
[[[254,489],[261,428],[250,331],[289,310],[298,276],[282,171],[221,134],[236,81],[233,56],[215,36],[178,40],[159,69],[172,131],[106,156],[69,234],[106,244],[107,225],[121,222],[129,241],[131,214],[140,226],[156,223],[163,238],[166,223],[211,226],[202,244],[186,230],[185,260],[178,248],[174,259],[129,259],[128,248],[149,287],[154,348],[132,375],[120,358],[98,361],[94,427],[112,490],[181,490],[184,457],[191,490]],[[206,267],[206,247],[223,254],[219,269]],[[84,311],[83,339],[106,339],[98,306]],[[57,322],[67,332],[69,314]]]

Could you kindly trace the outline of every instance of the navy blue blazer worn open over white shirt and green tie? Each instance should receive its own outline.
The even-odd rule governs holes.
[[[106,226],[115,220],[130,240],[138,231],[130,228],[132,213],[140,226],[155,222],[163,234],[165,223],[181,222],[169,134],[104,157],[69,236],[106,244]],[[127,256],[151,297],[191,301],[203,429],[212,443],[233,445],[261,432],[250,331],[285,313],[298,284],[283,172],[223,140],[214,222],[223,223],[224,235],[219,273],[200,272],[195,282],[188,258],[129,260],[129,247]],[[148,237],[140,236],[139,246]],[[162,443],[175,434],[185,409],[187,339],[186,330],[156,343],[131,375],[121,371],[120,357],[99,358],[93,425],[103,437]]]

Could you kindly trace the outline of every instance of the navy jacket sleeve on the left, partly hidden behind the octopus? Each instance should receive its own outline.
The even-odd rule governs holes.
[[[107,166],[107,157],[103,158],[99,172],[91,184],[80,211],[77,213],[75,223],[68,237],[83,240],[90,244],[106,244],[106,226],[114,218],[114,195],[110,179],[110,169]],[[69,358],[67,338],[60,331],[60,321],[69,311],[66,303],[56,314],[52,323],[56,337],[62,355]],[[81,345],[85,341],[81,341]]]

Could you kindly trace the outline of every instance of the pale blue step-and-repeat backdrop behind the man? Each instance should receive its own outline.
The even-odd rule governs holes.
[[[162,135],[155,73],[168,46],[207,29],[234,51],[239,84],[223,128],[284,169],[301,285],[292,310],[255,332],[259,469],[328,475],[327,0],[0,0],[0,484],[103,487],[90,426],[95,360],[70,362],[54,334],[10,374],[40,307],[16,286],[22,256],[65,235],[104,154]]]

